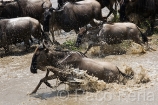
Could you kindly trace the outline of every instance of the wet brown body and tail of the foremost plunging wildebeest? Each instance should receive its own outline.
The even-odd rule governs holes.
[[[72,65],[80,70],[87,70],[87,74],[93,75],[107,83],[120,82],[120,75],[132,78],[130,75],[122,73],[117,66],[110,62],[93,60],[79,52],[70,52],[60,63]]]

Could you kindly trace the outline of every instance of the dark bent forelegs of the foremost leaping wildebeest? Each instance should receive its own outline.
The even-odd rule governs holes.
[[[49,75],[49,70],[47,70],[46,76],[44,78],[42,78],[40,80],[40,82],[38,83],[38,85],[36,86],[36,88],[31,92],[31,94],[36,93],[38,88],[41,86],[41,84],[44,82],[48,87],[52,88],[52,86],[50,85],[50,83],[47,82],[47,80],[51,80],[51,79],[55,79],[57,78],[57,76],[55,75]]]

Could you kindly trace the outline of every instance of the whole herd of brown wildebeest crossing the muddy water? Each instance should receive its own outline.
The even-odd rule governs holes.
[[[102,16],[104,7],[110,10],[106,17]],[[116,18],[117,10],[120,22],[107,22],[111,13]],[[32,37],[39,40],[40,45],[35,49],[30,70],[37,73],[37,69],[40,69],[47,73],[32,93],[36,93],[43,82],[53,88],[48,80],[59,78],[62,83],[67,81],[67,74],[63,72],[65,65],[87,70],[89,75],[107,83],[118,81],[120,76],[132,79],[132,72],[127,75],[110,62],[98,62],[85,54],[92,46],[118,44],[128,39],[148,46],[147,36],[154,32],[157,13],[158,0],[58,0],[57,8],[52,7],[50,0],[1,0],[0,47],[8,54],[11,44],[24,42],[26,50],[29,50],[29,40],[32,42]],[[136,24],[132,23],[135,20],[133,14],[137,16]],[[96,23],[94,19],[101,22]],[[149,25],[145,32],[141,32],[138,26],[144,20],[148,20]],[[92,27],[88,28],[87,24]],[[78,34],[77,47],[85,41],[85,37],[92,43],[84,53],[55,49],[52,45],[60,43],[55,40],[54,31],[61,29],[65,32],[74,30]],[[87,34],[87,31],[93,34]],[[54,74],[49,75],[50,71]]]

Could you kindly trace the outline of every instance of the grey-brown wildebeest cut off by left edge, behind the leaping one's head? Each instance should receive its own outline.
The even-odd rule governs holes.
[[[19,17],[0,20],[0,47],[8,53],[9,45],[23,42],[26,50],[30,47],[29,39],[42,40],[44,33],[38,20],[31,17]]]

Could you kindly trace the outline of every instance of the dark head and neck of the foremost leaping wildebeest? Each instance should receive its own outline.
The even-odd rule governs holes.
[[[61,67],[58,60],[63,59],[69,51],[57,50],[50,46],[47,41],[43,41],[42,45],[38,46],[32,57],[30,70],[32,73],[37,73],[37,69],[46,70],[46,66]]]

